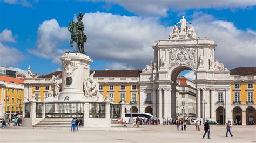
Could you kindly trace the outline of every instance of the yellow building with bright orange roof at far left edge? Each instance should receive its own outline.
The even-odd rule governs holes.
[[[0,118],[10,118],[23,112],[24,81],[0,76]]]

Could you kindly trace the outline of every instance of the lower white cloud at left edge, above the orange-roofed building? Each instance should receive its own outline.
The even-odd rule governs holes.
[[[16,48],[11,48],[3,45],[0,42],[0,65],[1,66],[11,66],[16,65],[19,61],[24,60],[25,56]]]

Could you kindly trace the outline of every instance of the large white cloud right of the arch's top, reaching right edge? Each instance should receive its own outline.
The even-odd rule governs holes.
[[[192,21],[198,37],[215,40],[215,59],[232,69],[239,66],[256,66],[256,31],[239,30],[232,22],[212,20],[201,15]]]

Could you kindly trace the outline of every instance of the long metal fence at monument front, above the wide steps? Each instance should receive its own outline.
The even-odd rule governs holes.
[[[45,103],[45,118],[81,118],[83,116],[84,103]]]

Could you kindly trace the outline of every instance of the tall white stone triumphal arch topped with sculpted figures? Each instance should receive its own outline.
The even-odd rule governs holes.
[[[155,117],[176,119],[176,78],[181,71],[188,69],[193,70],[196,75],[194,82],[197,84],[198,119],[215,120],[218,91],[225,94],[225,110],[231,110],[230,71],[215,60],[217,45],[214,44],[214,39],[197,37],[194,27],[183,17],[173,26],[169,39],[156,41],[152,48],[154,61],[141,74],[140,98],[145,97],[143,94],[152,92]],[[226,119],[232,117],[228,114],[230,112],[227,112]]]

